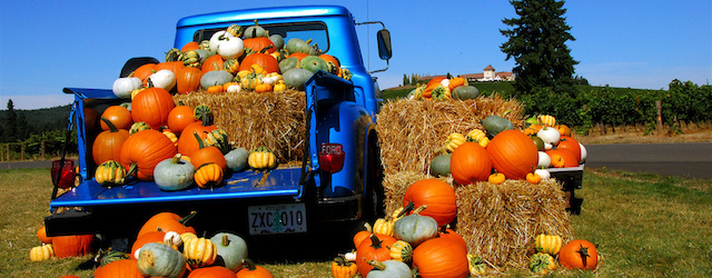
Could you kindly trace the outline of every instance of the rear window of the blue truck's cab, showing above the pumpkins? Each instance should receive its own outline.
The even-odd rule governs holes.
[[[279,24],[259,24],[269,31],[269,34],[278,33],[284,40],[285,44],[291,38],[299,38],[303,40],[312,39],[310,44],[317,43],[322,52],[326,52],[329,49],[328,32],[324,22],[299,22],[299,23],[279,23]],[[243,26],[243,29],[247,29],[249,24]],[[194,33],[192,40],[200,42],[202,40],[209,40],[210,37],[217,32],[225,30],[225,28],[216,29],[201,29]]]

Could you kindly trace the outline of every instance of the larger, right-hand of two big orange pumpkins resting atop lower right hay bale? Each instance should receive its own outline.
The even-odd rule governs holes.
[[[494,169],[507,179],[524,179],[538,163],[536,145],[518,130],[497,133],[486,149]]]

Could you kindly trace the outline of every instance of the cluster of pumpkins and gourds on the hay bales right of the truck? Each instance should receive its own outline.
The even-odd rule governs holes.
[[[586,148],[576,141],[566,125],[548,115],[527,119],[517,130],[501,116],[482,120],[484,129],[449,133],[443,155],[431,161],[431,173],[451,176],[459,185],[477,181],[502,183],[506,179],[538,183],[551,178],[548,168],[578,167]]]

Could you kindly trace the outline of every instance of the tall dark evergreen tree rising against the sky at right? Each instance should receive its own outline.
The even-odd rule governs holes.
[[[554,92],[575,95],[574,66],[566,41],[575,40],[565,22],[564,0],[511,0],[520,18],[504,19],[510,30],[500,32],[510,39],[500,47],[514,58],[514,87],[518,93],[548,87]]]

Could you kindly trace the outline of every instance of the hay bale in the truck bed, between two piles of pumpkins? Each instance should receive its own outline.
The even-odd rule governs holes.
[[[304,91],[241,91],[207,93],[202,91],[174,96],[189,107],[207,105],[214,125],[224,129],[230,143],[251,150],[265,146],[280,163],[300,161],[306,132]]]

